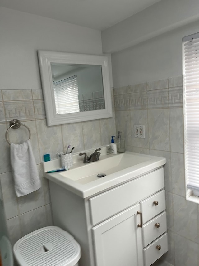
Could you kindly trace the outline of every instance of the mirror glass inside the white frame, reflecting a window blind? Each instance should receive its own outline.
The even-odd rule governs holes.
[[[105,109],[101,65],[50,65],[57,114]]]

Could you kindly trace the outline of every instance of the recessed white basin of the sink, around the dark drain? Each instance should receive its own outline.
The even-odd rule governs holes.
[[[100,177],[97,177],[99,173],[108,175],[126,169],[128,167],[135,166],[141,162],[148,161],[148,157],[143,157],[139,155],[133,155],[129,153],[120,153],[117,156],[111,156],[96,162],[91,162],[84,164],[81,167],[70,169],[70,171],[61,172],[60,175],[70,178],[73,181],[76,181],[80,184],[86,184],[95,180],[98,180]]]

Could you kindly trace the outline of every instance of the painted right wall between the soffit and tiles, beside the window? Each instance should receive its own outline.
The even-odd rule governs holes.
[[[199,21],[113,53],[113,87],[182,75],[182,38],[198,31]]]

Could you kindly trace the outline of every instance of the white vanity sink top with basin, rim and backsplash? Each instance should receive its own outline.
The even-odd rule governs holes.
[[[89,152],[86,151],[89,155]],[[166,159],[134,152],[107,155],[102,147],[101,156],[96,162],[83,163],[78,154],[73,155],[73,167],[67,171],[46,173],[60,167],[60,160],[43,163],[44,177],[83,198],[133,180],[159,168]],[[98,174],[105,174],[98,177]]]

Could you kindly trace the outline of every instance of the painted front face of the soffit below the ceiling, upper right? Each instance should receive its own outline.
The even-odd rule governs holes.
[[[162,0],[102,31],[104,53],[126,49],[199,19],[198,0]]]

